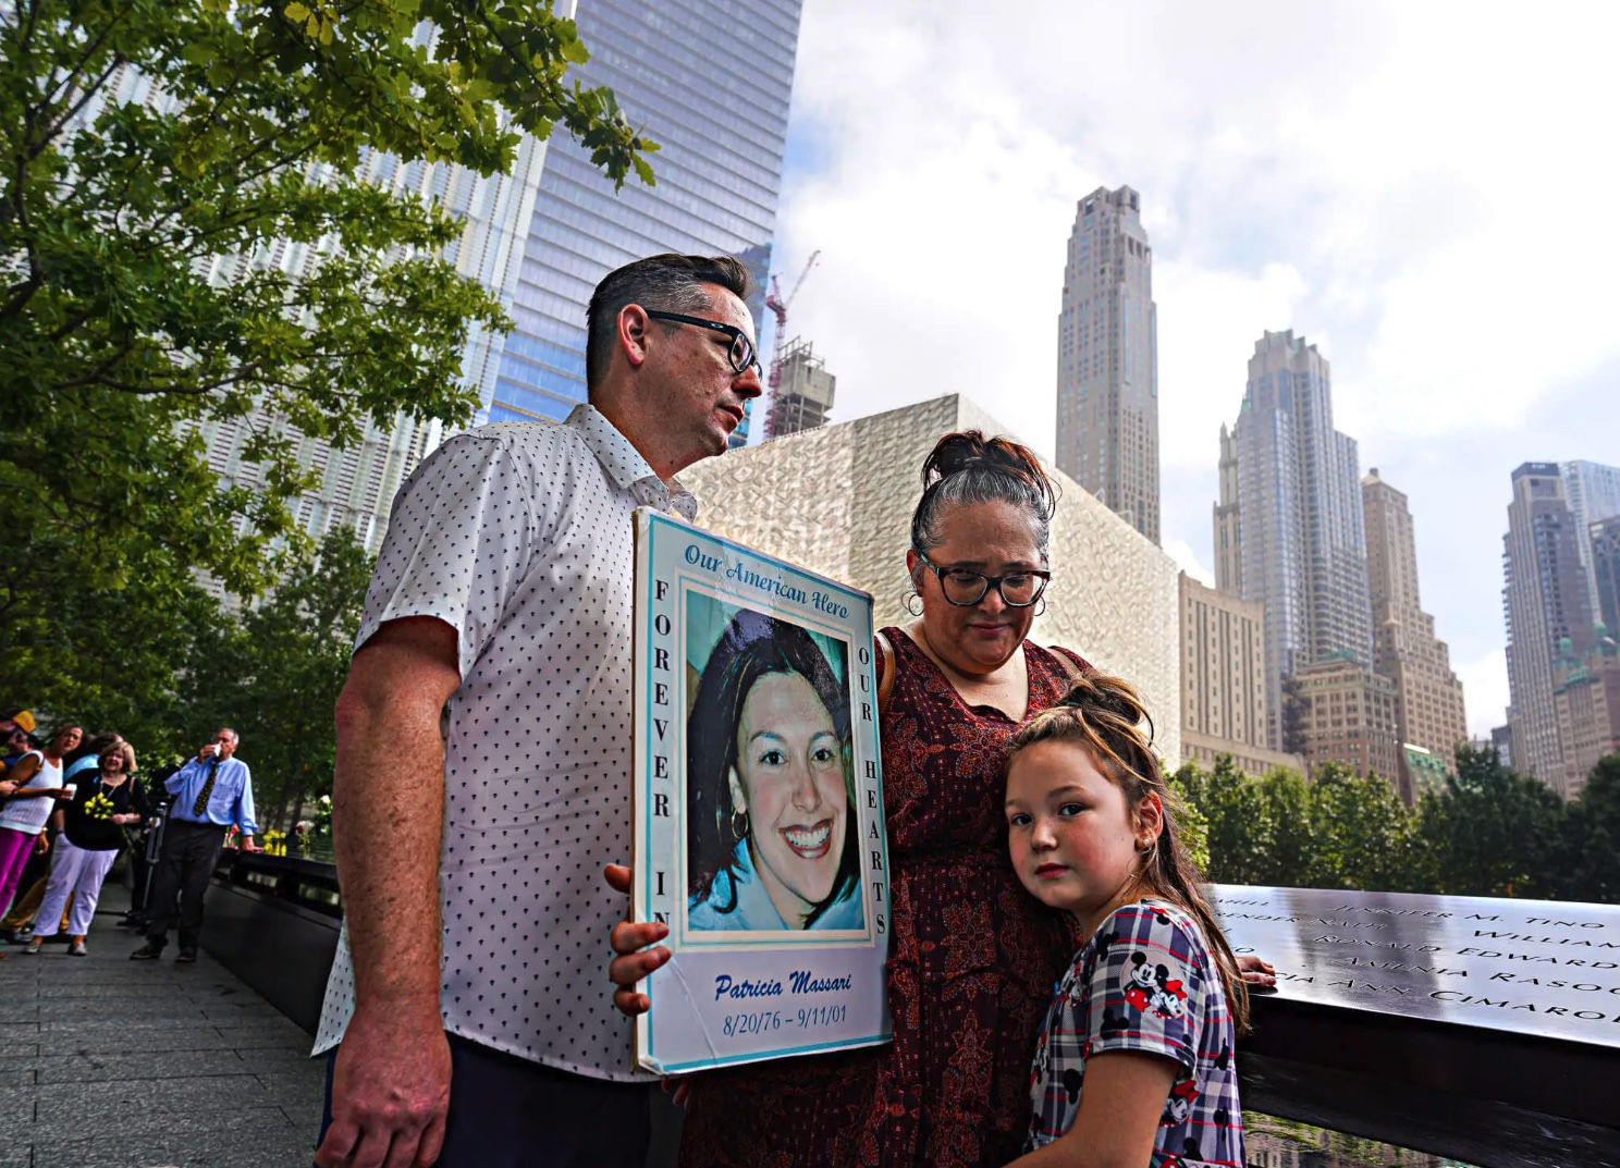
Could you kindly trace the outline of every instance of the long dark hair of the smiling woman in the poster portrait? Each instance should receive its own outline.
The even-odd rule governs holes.
[[[731,901],[716,906],[718,912],[737,907],[735,846],[731,816],[729,774],[737,766],[737,727],[742,724],[742,706],[766,674],[799,674],[815,690],[833,719],[833,732],[839,740],[839,765],[844,771],[844,799],[847,800],[844,850],[839,855],[838,876],[826,899],[805,917],[802,928],[810,928],[821,915],[849,896],[860,880],[860,831],[850,773],[850,724],[849,724],[849,674],[838,679],[826,654],[804,629],[787,620],[768,617],[752,609],[739,609],[719,642],[710,653],[708,664],[698,680],[697,700],[687,719],[687,784],[692,789],[692,808],[687,828],[687,894],[692,902],[708,899],[714,878],[724,872],[731,886]],[[787,922],[789,928],[794,922]]]

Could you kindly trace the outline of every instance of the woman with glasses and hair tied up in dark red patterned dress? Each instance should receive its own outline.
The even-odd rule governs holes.
[[[1022,1147],[1030,1051],[1076,938],[1013,872],[1001,766],[1084,663],[1025,640],[1056,504],[1035,455],[948,434],[922,480],[906,552],[915,619],[878,635],[894,1042],[693,1076],[684,1165],[951,1168]],[[614,930],[627,1012],[645,1009],[633,982],[663,961],[635,953],[661,936],[643,928]]]

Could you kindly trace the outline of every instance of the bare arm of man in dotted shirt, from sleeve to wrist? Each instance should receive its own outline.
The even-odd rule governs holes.
[[[332,844],[358,1006],[439,998],[442,697],[394,684],[389,648],[363,650],[339,701]]]

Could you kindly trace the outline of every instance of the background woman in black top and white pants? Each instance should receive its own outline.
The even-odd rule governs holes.
[[[62,923],[62,906],[73,897],[68,917],[68,953],[84,956],[84,935],[100,899],[107,870],[123,847],[123,828],[138,825],[147,813],[146,795],[130,778],[134,773],[134,748],[128,742],[109,747],[99,768],[81,771],[73,802],[62,808],[63,826],[57,839],[57,860],[50,867],[45,899],[34,917],[34,938],[24,953],[39,953],[42,938],[52,936]]]

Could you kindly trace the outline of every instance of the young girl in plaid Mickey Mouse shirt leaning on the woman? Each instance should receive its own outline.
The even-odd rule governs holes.
[[[1249,1003],[1142,721],[1136,690],[1087,674],[1013,739],[1013,868],[1087,938],[1040,1034],[1017,1168],[1244,1163]]]

